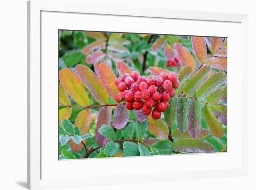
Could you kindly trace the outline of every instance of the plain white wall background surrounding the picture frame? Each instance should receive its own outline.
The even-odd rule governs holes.
[[[100,0],[97,2],[101,5]],[[102,2],[104,4],[104,1]],[[183,0],[182,4],[177,0],[154,0],[152,3],[150,2],[149,0],[129,0],[126,2],[119,0],[116,5],[249,14],[249,77],[251,88],[249,92],[251,108],[249,113],[249,176],[111,185],[104,187],[104,189],[255,189],[253,179],[256,179],[256,126],[252,120],[255,117],[253,107],[255,106],[254,86],[256,81],[253,73],[253,70],[256,69],[254,58],[256,49],[255,6],[249,0],[243,0],[243,4],[241,1],[239,1],[240,4],[236,4],[234,0],[215,0],[211,1],[209,5],[205,0]],[[4,3],[1,1],[0,14],[0,189],[19,190],[25,189],[27,178],[27,2],[26,0],[8,0]],[[254,89],[252,89],[253,87]],[[75,188],[71,189],[75,190]],[[102,189],[102,187],[86,189],[97,190]]]

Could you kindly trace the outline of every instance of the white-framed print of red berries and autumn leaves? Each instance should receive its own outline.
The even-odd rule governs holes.
[[[32,0],[28,36],[30,189],[247,174],[247,15]]]

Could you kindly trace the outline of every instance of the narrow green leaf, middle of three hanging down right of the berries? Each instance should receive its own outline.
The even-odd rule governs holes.
[[[177,102],[177,129],[184,133],[188,129],[188,105],[189,98],[181,97]]]

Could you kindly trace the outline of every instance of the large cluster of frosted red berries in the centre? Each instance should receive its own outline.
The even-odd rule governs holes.
[[[179,80],[176,73],[169,74],[161,72],[159,77],[140,76],[138,71],[131,75],[124,73],[115,80],[119,93],[115,95],[118,103],[126,100],[128,110],[140,110],[144,115],[152,111],[152,118],[159,119],[161,112],[169,107],[170,97],[175,96],[175,88],[179,87]]]

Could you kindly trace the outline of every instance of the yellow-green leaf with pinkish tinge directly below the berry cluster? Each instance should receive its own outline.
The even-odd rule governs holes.
[[[148,116],[148,131],[160,139],[165,139],[168,137],[169,129],[167,124],[161,119],[153,119]]]

